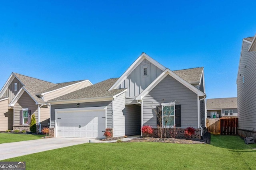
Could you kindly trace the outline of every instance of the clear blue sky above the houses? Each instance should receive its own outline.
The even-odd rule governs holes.
[[[170,68],[204,67],[207,98],[236,97],[254,0],[2,1],[0,88],[12,72],[59,83],[120,77],[145,52]]]

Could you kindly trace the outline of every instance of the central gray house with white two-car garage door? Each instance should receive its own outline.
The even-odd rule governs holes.
[[[122,74],[49,100],[50,133],[55,137],[104,138],[141,134],[151,125],[157,135],[158,107],[172,111],[168,127],[205,127],[204,68],[171,71],[145,53]],[[162,121],[166,115],[162,114]],[[108,128],[108,129],[106,129]]]

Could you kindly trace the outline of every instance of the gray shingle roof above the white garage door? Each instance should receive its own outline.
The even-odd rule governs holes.
[[[108,91],[108,89],[118,80],[118,78],[110,78],[108,80],[93,84],[91,86],[76,90],[69,94],[65,94],[58,98],[54,98],[49,101],[58,101],[58,100],[73,100],[73,99],[86,99],[86,98],[97,98],[97,97],[108,97],[114,96],[120,92],[123,92],[125,89],[114,89]]]

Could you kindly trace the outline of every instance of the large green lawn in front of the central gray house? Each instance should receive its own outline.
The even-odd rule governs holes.
[[[86,143],[3,161],[26,169],[256,169],[256,144],[238,136],[212,136],[212,144]]]

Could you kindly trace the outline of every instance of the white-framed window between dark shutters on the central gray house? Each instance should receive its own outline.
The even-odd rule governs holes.
[[[162,125],[167,127],[175,125],[175,103],[162,103]]]

